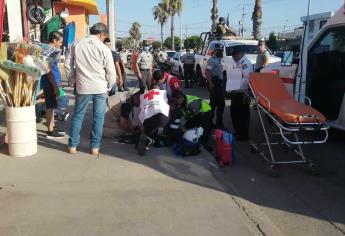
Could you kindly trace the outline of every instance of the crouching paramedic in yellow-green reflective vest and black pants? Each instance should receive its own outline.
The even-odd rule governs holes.
[[[172,103],[176,109],[181,110],[186,120],[185,129],[188,130],[195,127],[202,127],[204,129],[204,134],[200,142],[207,151],[211,152],[212,147],[208,145],[212,131],[213,118],[210,104],[199,97],[185,95],[181,91],[173,92]]]

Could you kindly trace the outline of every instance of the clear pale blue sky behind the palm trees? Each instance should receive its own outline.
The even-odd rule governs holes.
[[[345,0],[312,0],[311,13],[336,11]],[[100,12],[105,12],[106,0],[97,0]],[[115,0],[116,33],[117,37],[128,36],[131,23],[138,21],[142,25],[143,39],[147,37],[160,38],[160,26],[153,20],[152,8],[159,0]],[[230,14],[230,25],[236,31],[239,20],[242,18],[244,8],[244,26],[246,34],[251,35],[251,15],[255,0],[218,0],[219,16],[227,17]],[[269,32],[282,32],[292,30],[301,25],[301,16],[307,13],[308,0],[263,0],[264,35]],[[210,30],[210,10],[212,0],[184,0],[182,19],[183,37],[199,35]],[[176,35],[180,35],[180,19],[175,18]],[[97,17],[92,17],[90,23],[97,22]],[[164,27],[164,37],[170,35],[170,22]]]

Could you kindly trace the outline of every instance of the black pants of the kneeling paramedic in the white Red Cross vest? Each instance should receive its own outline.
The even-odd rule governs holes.
[[[169,117],[159,113],[144,121],[144,132],[148,137],[156,140],[159,128],[165,128],[169,123]]]

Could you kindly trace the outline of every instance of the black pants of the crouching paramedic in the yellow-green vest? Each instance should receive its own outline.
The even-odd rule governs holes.
[[[200,143],[206,145],[208,140],[210,139],[211,132],[212,132],[212,119],[213,119],[213,112],[203,112],[197,116],[193,116],[190,118],[186,125],[186,129],[192,129],[195,127],[202,127],[204,129],[204,134],[200,139]]]

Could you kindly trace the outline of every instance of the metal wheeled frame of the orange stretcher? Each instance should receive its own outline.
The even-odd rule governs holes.
[[[251,141],[250,149],[253,153],[259,154],[265,161],[269,163],[270,168],[270,175],[272,177],[277,177],[279,175],[279,172],[277,170],[277,166],[283,165],[283,164],[305,164],[308,167],[308,170],[311,174],[317,175],[318,172],[313,164],[313,161],[308,159],[303,152],[302,145],[308,145],[308,144],[323,144],[328,139],[328,129],[329,126],[326,123],[319,122],[316,115],[310,115],[310,116],[299,116],[299,118],[309,118],[311,120],[314,120],[313,122],[309,123],[302,123],[298,122],[299,119],[297,119],[296,123],[290,123],[285,122],[276,117],[271,112],[271,101],[269,98],[264,96],[260,92],[255,92],[249,83],[251,94],[249,97],[254,102],[254,106],[257,108],[257,112],[259,115],[260,125],[264,133],[265,141],[261,143],[255,143],[254,141]],[[268,104],[268,108],[265,108],[259,103],[259,98],[262,98],[266,100]],[[311,106],[311,99],[308,97],[305,97],[305,100],[308,101],[308,105]],[[272,132],[269,131],[265,125],[263,114],[266,115],[267,118],[269,118],[273,125],[278,129],[279,132]],[[319,132],[322,135],[315,139],[315,140],[302,140],[299,136],[303,132]],[[271,137],[273,135],[280,135],[282,138],[281,142],[271,142]],[[294,139],[291,139],[288,137],[288,135],[292,135]],[[294,151],[294,153],[297,155],[297,159],[288,160],[288,161],[279,161],[274,155],[272,146],[273,145],[282,145],[286,149],[291,149]],[[262,146],[267,146],[268,154],[265,153]]]

